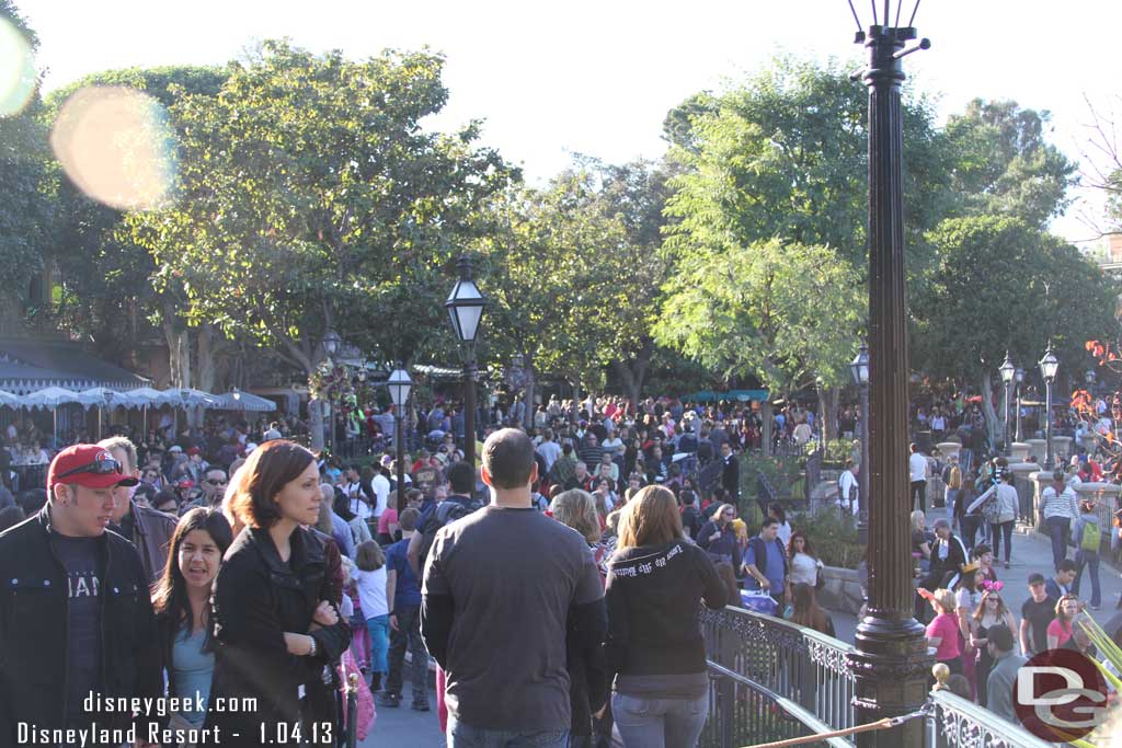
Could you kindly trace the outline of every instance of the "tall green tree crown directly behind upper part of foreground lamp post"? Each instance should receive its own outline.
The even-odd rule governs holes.
[[[828,244],[863,266],[867,95],[837,63],[779,57],[743,85],[672,111],[664,126],[677,144],[670,159],[683,173],[668,203],[680,221],[668,237],[671,249],[711,244],[712,234],[742,243],[774,237]],[[949,203],[948,175],[930,104],[910,96],[903,117],[907,243],[916,256]]]

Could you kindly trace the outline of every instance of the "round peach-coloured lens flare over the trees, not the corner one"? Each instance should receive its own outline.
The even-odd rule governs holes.
[[[168,200],[175,136],[151,96],[121,86],[80,89],[58,111],[50,148],[66,176],[111,207],[136,211]]]

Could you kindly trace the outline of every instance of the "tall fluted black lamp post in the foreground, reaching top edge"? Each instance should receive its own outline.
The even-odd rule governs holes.
[[[890,2],[883,19],[873,2],[867,31],[857,11],[855,41],[868,49],[870,63],[853,80],[868,86],[868,606],[857,625],[854,674],[857,722],[868,724],[909,714],[927,701],[931,658],[923,627],[914,619],[911,534],[908,500],[908,315],[904,293],[902,59],[930,41],[916,39],[912,20],[900,26]],[[856,736],[858,748],[920,748],[923,720]]]

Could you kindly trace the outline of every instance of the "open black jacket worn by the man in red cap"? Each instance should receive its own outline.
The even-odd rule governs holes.
[[[107,530],[101,550],[101,693],[163,694],[156,617],[148,578],[132,544]],[[50,505],[0,535],[0,746],[16,745],[16,723],[66,727],[70,640],[66,571],[50,544]],[[128,718],[99,713],[99,727]],[[140,727],[138,735],[145,735]]]

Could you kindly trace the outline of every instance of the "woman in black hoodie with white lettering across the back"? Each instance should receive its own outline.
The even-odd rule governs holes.
[[[611,712],[625,747],[697,745],[709,700],[698,613],[726,597],[712,561],[682,537],[674,495],[641,490],[623,509],[605,592]]]

